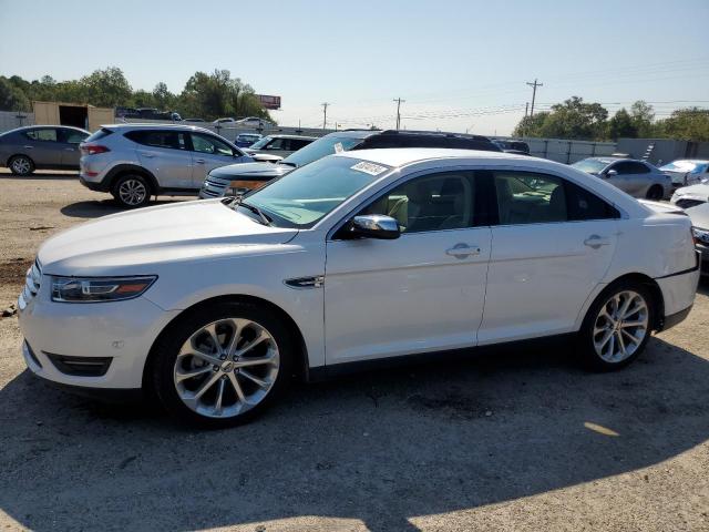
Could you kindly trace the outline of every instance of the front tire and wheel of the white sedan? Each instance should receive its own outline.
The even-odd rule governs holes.
[[[282,392],[296,345],[288,327],[261,306],[223,301],[202,307],[162,335],[152,365],[153,387],[182,423],[208,429],[242,424]]]

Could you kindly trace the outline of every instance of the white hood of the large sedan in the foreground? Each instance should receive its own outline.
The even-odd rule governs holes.
[[[297,229],[261,225],[219,200],[104,216],[49,238],[38,254],[52,275],[147,275],[162,263],[266,253]]]

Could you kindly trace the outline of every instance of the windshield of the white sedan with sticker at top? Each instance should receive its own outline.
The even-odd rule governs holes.
[[[308,228],[388,170],[359,158],[325,157],[249,194],[244,203],[258,207],[275,226]]]

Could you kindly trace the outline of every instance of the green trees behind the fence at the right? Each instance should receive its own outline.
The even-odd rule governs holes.
[[[549,112],[522,119],[513,135],[588,141],[620,137],[709,141],[709,110],[680,109],[656,121],[653,106],[638,100],[629,112],[623,108],[608,119],[608,111],[599,103],[572,96],[552,105]]]

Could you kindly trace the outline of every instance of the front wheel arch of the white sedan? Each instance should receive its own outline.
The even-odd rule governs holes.
[[[182,310],[177,316],[175,316],[164,328],[163,330],[161,330],[161,332],[155,337],[155,339],[153,340],[153,344],[151,346],[151,349],[147,354],[147,358],[145,360],[145,364],[143,366],[143,389],[144,390],[152,390],[152,380],[150,378],[150,376],[152,375],[152,365],[155,361],[155,356],[156,356],[156,351],[157,351],[157,346],[160,345],[160,341],[162,340],[162,338],[169,334],[172,331],[173,328],[175,328],[178,323],[179,319],[186,314],[186,313],[192,313],[195,310],[198,310],[202,307],[206,307],[209,305],[214,305],[216,303],[222,303],[222,301],[228,301],[228,303],[249,303],[253,305],[259,305],[259,306],[264,306],[267,307],[271,313],[274,313],[275,315],[279,316],[280,318],[282,318],[282,320],[285,321],[286,326],[288,327],[288,330],[290,331],[290,334],[292,335],[292,340],[295,342],[297,342],[298,345],[298,349],[296,350],[296,352],[298,354],[298,359],[295,361],[294,367],[296,368],[296,376],[300,379],[304,380],[308,380],[309,378],[309,365],[308,365],[308,349],[306,346],[306,341],[305,341],[305,337],[302,336],[302,332],[300,331],[300,328],[298,327],[298,325],[296,324],[296,321],[290,317],[290,315],[288,313],[286,313],[282,308],[280,308],[278,305],[260,298],[260,297],[256,297],[256,296],[248,296],[248,295],[243,295],[243,294],[230,294],[230,295],[222,295],[222,296],[216,296],[216,297],[210,297],[207,299],[203,299],[202,301],[195,303],[194,305],[185,308],[184,310]],[[151,391],[152,392],[152,391]]]

